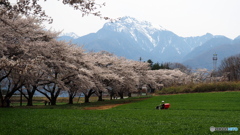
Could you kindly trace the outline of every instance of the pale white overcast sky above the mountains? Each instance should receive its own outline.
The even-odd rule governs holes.
[[[106,2],[103,16],[131,16],[161,25],[183,37],[206,33],[225,35],[231,39],[240,35],[240,0],[95,0]],[[95,33],[106,23],[92,15],[82,17],[61,1],[48,0],[43,9],[54,22],[47,28],[74,32],[79,36]]]

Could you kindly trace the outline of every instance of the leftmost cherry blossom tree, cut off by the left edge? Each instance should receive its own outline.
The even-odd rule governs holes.
[[[47,42],[52,34],[47,34],[39,25],[39,20],[35,18],[22,18],[14,14],[11,19],[1,15],[0,20],[2,47],[0,81],[1,84],[5,84],[2,87],[8,89],[5,98],[11,98],[27,80],[27,71],[34,59],[32,54],[35,50],[31,53],[31,48],[41,44],[42,41]],[[4,100],[2,94],[1,100]]]

